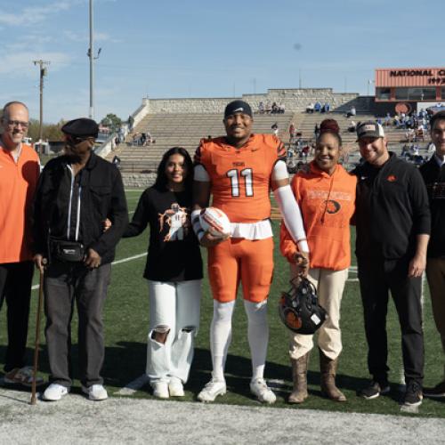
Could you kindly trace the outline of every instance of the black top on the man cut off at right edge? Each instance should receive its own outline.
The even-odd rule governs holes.
[[[439,166],[433,156],[420,167],[431,208],[431,239],[428,256],[445,257],[445,166]]]

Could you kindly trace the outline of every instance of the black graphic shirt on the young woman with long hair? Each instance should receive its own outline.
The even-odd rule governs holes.
[[[202,279],[201,253],[190,223],[190,208],[190,192],[153,186],[142,193],[124,238],[139,235],[150,224],[149,255],[143,275],[146,279]]]

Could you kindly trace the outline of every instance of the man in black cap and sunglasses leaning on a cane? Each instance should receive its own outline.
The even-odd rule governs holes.
[[[98,125],[87,118],[61,128],[65,153],[44,167],[34,210],[35,263],[44,271],[45,336],[51,384],[44,400],[58,401],[72,384],[70,322],[78,312],[79,374],[90,400],[108,394],[100,375],[104,359],[102,308],[111,262],[128,214],[116,166],[93,153]],[[104,231],[109,219],[111,227]]]

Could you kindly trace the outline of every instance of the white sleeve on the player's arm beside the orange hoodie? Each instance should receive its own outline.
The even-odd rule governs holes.
[[[284,169],[283,169],[284,166]],[[287,167],[283,161],[278,161],[273,167],[272,180],[279,181],[288,177]],[[283,216],[287,231],[294,239],[301,252],[309,252],[309,246],[306,240],[306,233],[303,226],[303,218],[300,207],[295,201],[294,193],[289,184],[278,187],[273,190],[275,200],[279,205],[279,211]]]

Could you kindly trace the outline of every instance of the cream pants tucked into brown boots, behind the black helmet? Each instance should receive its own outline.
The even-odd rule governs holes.
[[[295,271],[291,266],[291,275]],[[319,329],[320,350],[331,360],[342,352],[342,333],[340,331],[340,304],[348,270],[332,271],[330,269],[310,269],[308,279],[317,288],[320,305],[328,312],[328,318]],[[291,333],[289,355],[299,359],[313,348],[313,335]]]

